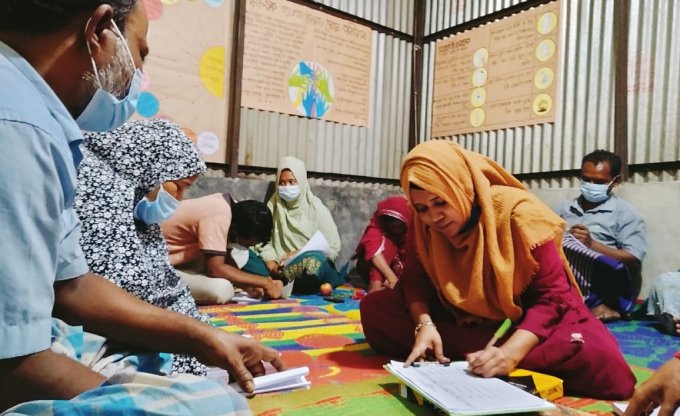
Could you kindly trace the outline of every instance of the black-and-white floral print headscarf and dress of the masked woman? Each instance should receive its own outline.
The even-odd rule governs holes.
[[[207,322],[170,265],[159,225],[132,215],[137,202],[161,183],[205,170],[193,143],[179,127],[156,119],[86,133],[82,147],[75,208],[92,271],[148,303]],[[172,372],[203,375],[205,367],[175,355]]]

